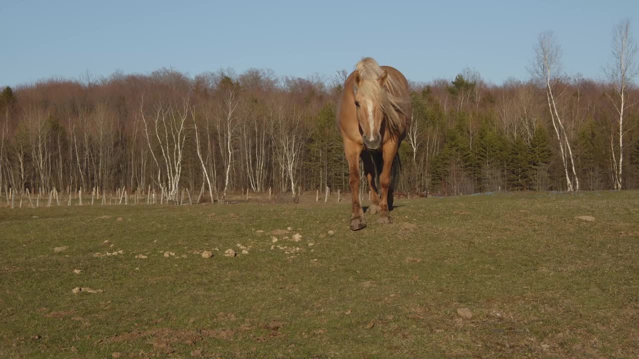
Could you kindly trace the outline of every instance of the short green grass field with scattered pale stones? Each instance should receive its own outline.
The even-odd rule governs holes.
[[[0,358],[639,357],[639,192],[396,205],[0,209]]]

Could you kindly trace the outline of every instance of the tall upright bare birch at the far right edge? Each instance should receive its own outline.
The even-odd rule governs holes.
[[[628,88],[639,73],[639,63],[636,61],[639,48],[635,38],[631,34],[631,23],[629,19],[624,19],[612,29],[612,53],[610,63],[604,69],[606,77],[613,88],[613,96],[606,96],[610,99],[617,112],[617,132],[619,139],[615,148],[615,132],[610,135],[610,153],[612,156],[613,179],[616,190],[622,186],[622,174],[624,164],[624,111],[635,103],[628,101]],[[619,155],[615,155],[615,152]]]

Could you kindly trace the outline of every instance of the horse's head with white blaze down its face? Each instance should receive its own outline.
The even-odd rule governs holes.
[[[355,106],[357,122],[361,128],[364,146],[368,149],[381,148],[382,126],[384,121],[383,102],[386,99],[384,84],[388,73],[384,70],[377,79],[362,79],[355,72]]]

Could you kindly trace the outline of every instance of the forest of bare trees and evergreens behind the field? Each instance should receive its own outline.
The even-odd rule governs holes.
[[[621,40],[629,38],[622,25]],[[528,79],[491,84],[471,68],[409,79],[413,125],[399,151],[397,192],[639,188],[636,61],[614,61],[634,59],[636,45],[613,42],[604,80],[567,75],[552,33],[540,34],[534,50]],[[153,188],[175,200],[187,188],[205,201],[269,188],[293,197],[348,191],[335,126],[348,73],[162,68],[6,86],[0,191]]]

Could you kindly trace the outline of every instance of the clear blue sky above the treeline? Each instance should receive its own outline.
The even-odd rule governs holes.
[[[332,76],[373,56],[410,80],[452,78],[469,66],[497,84],[527,79],[537,34],[551,29],[564,69],[599,78],[610,29],[627,1],[29,1],[0,0],[0,84],[52,76],[196,75],[270,68]]]

